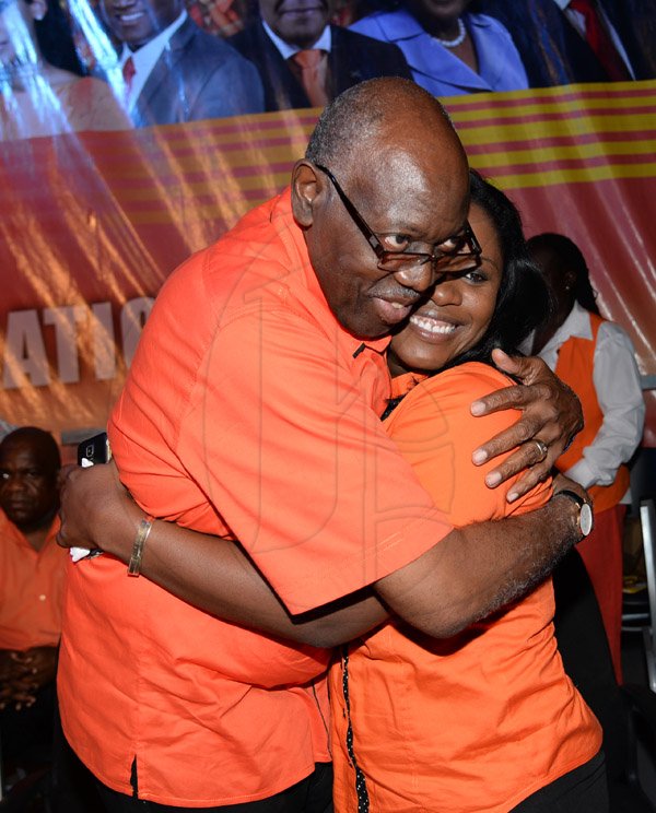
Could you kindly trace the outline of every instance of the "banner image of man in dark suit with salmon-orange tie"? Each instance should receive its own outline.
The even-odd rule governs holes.
[[[331,0],[260,0],[260,20],[229,39],[257,66],[266,110],[325,107],[365,79],[411,79],[395,45],[329,25],[332,5]]]

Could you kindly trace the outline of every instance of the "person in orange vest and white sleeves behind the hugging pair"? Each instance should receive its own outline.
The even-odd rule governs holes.
[[[528,241],[554,295],[554,313],[532,351],[581,399],[585,427],[558,467],[588,490],[595,528],[578,552],[595,587],[621,682],[622,528],[629,503],[625,463],[642,437],[645,404],[634,349],[624,330],[601,318],[585,258],[559,234]]]

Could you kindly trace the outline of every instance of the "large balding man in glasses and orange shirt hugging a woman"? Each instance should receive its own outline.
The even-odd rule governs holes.
[[[407,80],[373,80],[327,108],[291,188],[169,278],[109,426],[121,479],[152,515],[132,574],[152,517],[166,518],[238,539],[292,616],[343,604],[342,640],[376,623],[375,598],[374,620],[351,614],[367,586],[443,636],[578,539],[579,508],[562,498],[454,531],[380,424],[389,333],[442,274],[478,262],[468,186],[440,104]],[[490,400],[526,414],[489,456],[540,436],[496,482],[535,463],[528,488],[577,425],[540,369],[523,363],[535,386]],[[201,581],[218,547],[194,559]],[[238,582],[225,617],[248,626]],[[65,731],[108,810],[330,809],[326,650],[222,622],[110,556],[72,568],[67,613]]]

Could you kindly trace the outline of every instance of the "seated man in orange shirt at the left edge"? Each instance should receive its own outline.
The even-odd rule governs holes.
[[[59,449],[34,426],[0,444],[0,734],[5,759],[48,758],[66,553]]]

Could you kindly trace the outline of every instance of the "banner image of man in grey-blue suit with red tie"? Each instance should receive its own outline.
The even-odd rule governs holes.
[[[101,0],[122,44],[124,103],[136,127],[262,110],[253,64],[199,28],[183,0]]]

